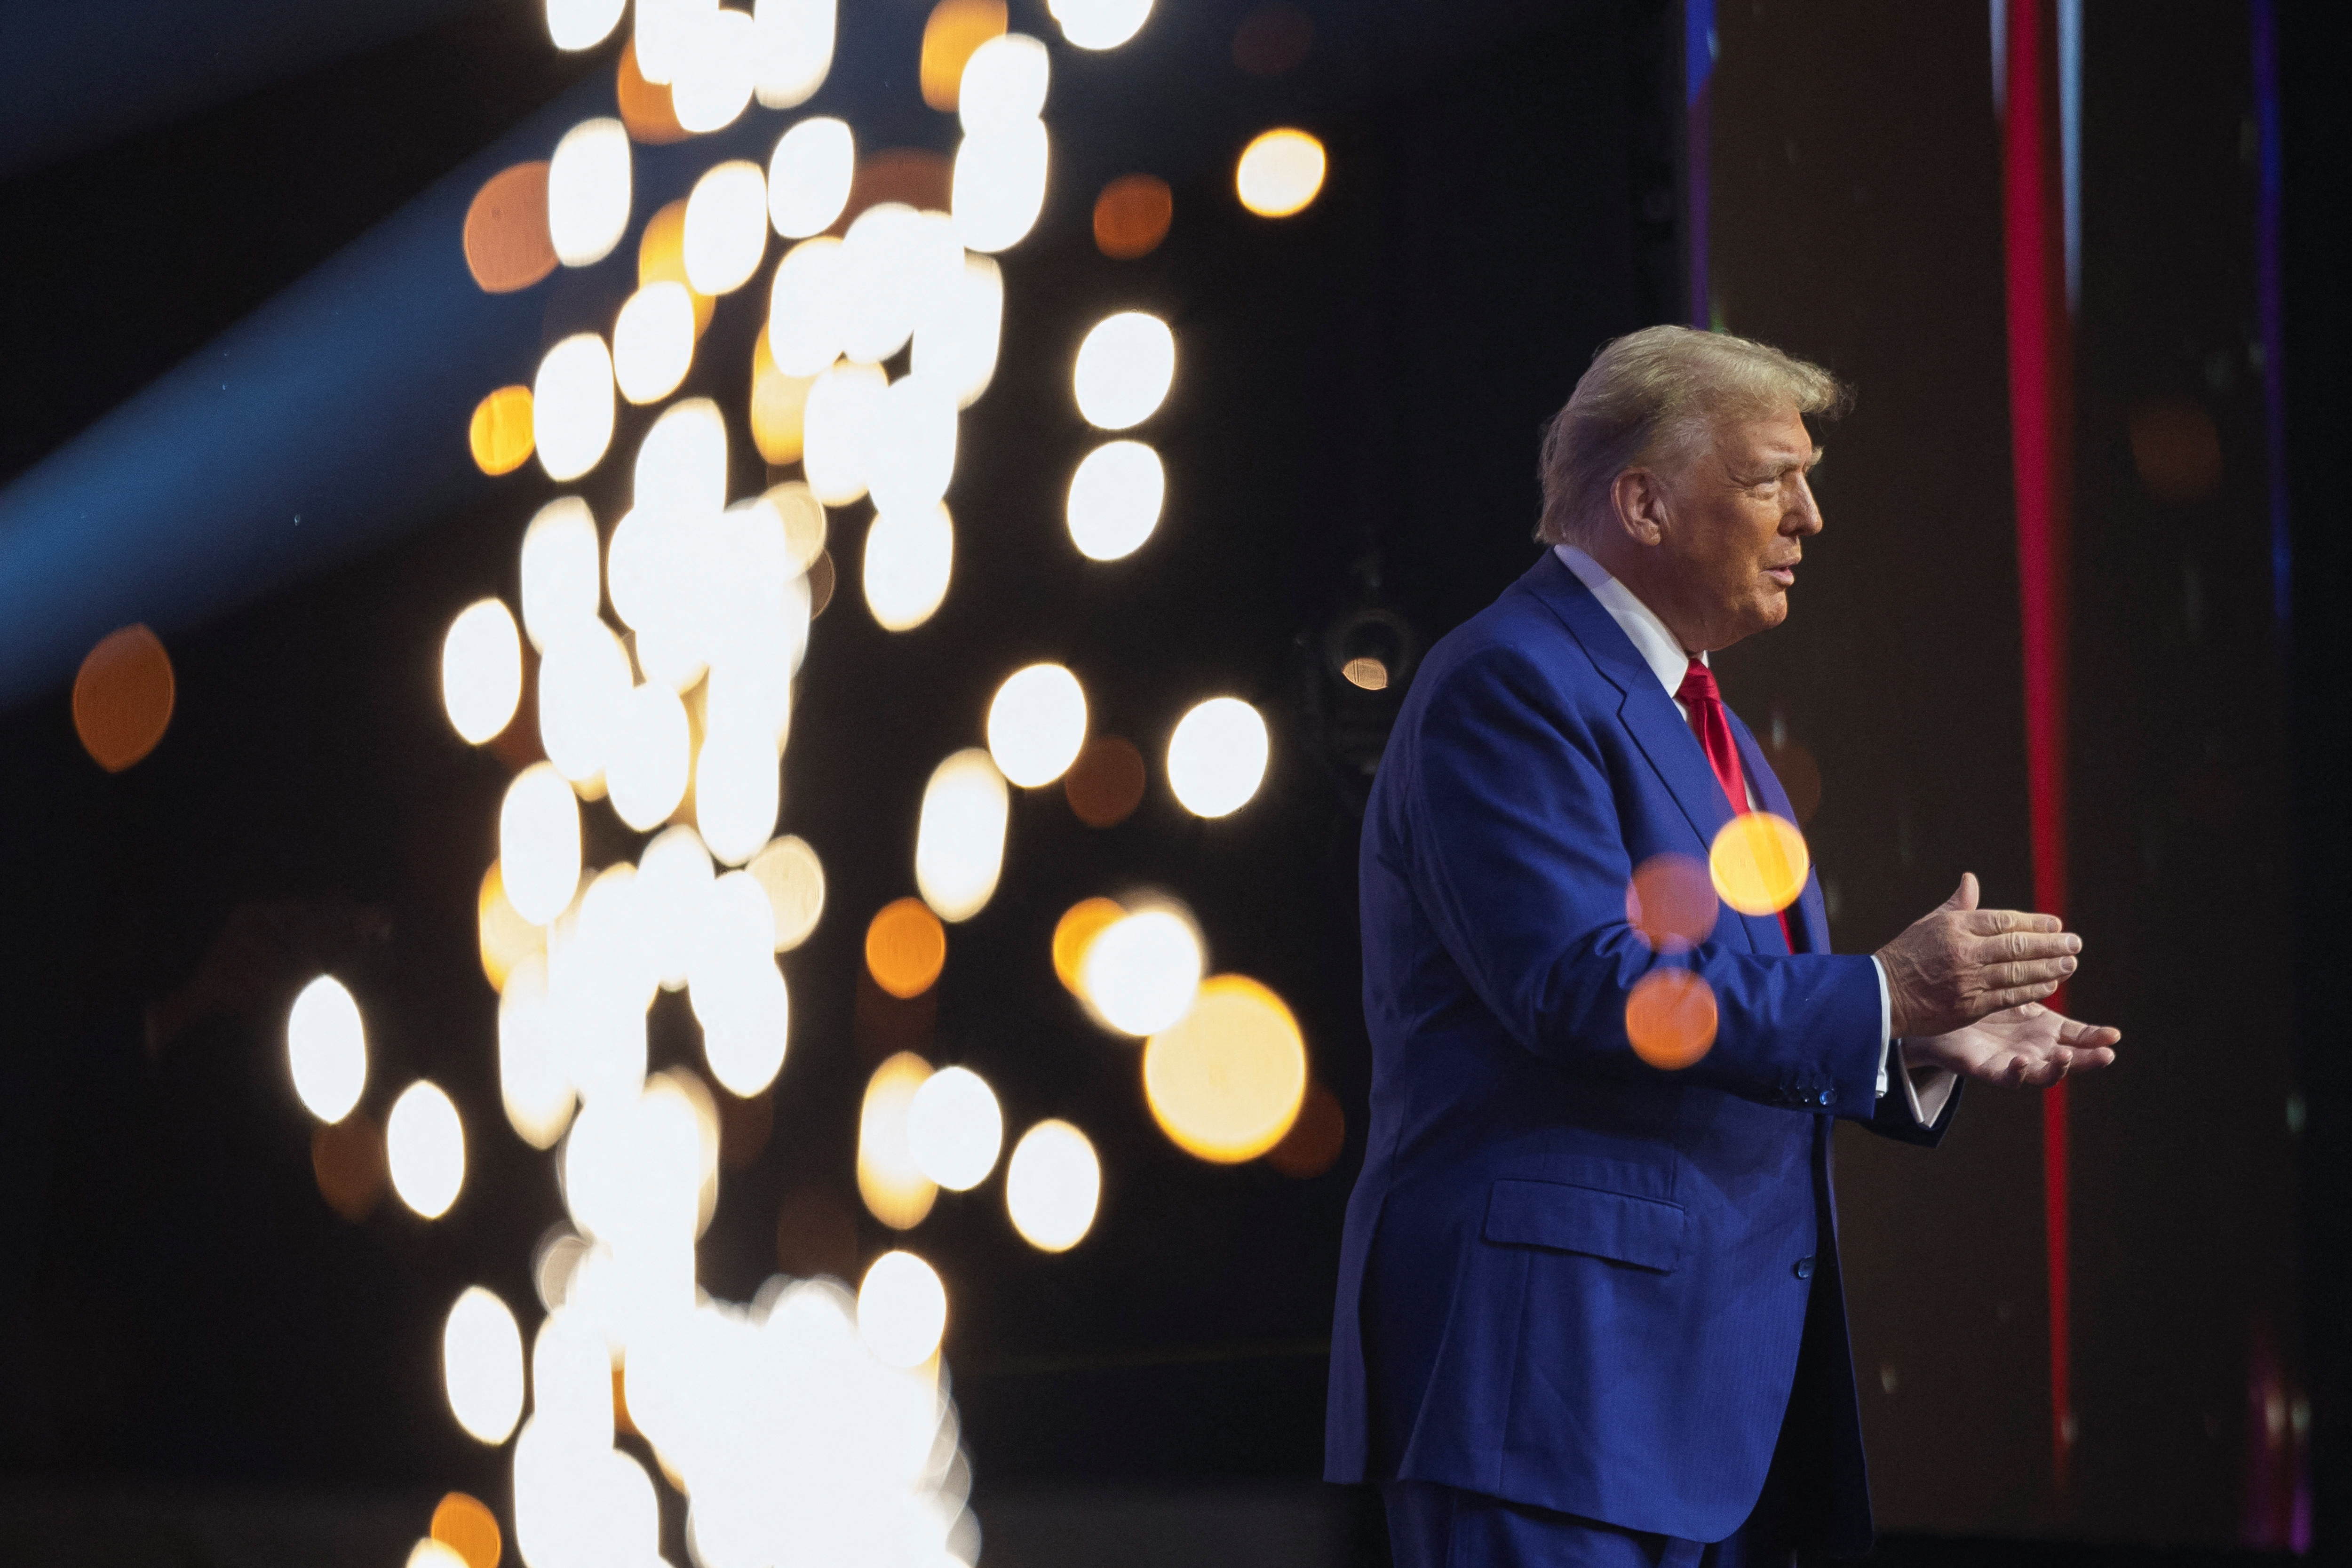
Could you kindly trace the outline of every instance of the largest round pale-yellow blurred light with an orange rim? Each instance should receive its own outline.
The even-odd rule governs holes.
[[[1143,1044],[1152,1119],[1178,1150],[1214,1164],[1256,1159],[1282,1143],[1305,1091],[1298,1020],[1249,976],[1202,980],[1192,1011]]]

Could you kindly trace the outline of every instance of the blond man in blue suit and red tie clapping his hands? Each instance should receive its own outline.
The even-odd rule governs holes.
[[[1973,877],[1870,957],[1830,952],[1811,875],[1696,945],[1628,900],[1733,816],[1792,818],[1708,654],[1788,616],[1820,531],[1804,416],[1842,402],[1726,334],[1602,348],[1543,442],[1552,548],[1397,717],[1327,1476],[1383,1486],[1399,1568],[1867,1552],[1832,1117],[1933,1145],[1959,1079],[2114,1060],[2114,1030],[2039,1006],[2082,943],[1978,910]],[[1658,971],[1663,1044],[1628,1030]]]

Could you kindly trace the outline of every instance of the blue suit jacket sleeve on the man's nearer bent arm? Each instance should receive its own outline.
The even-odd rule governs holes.
[[[1414,891],[1524,1048],[1616,1079],[1679,1077],[1766,1105],[1875,1117],[1872,961],[1759,957],[1712,938],[1672,959],[1651,952],[1625,919],[1632,860],[1618,785],[1590,722],[1524,654],[1491,646],[1444,670],[1397,759]],[[1665,964],[1698,973],[1717,1006],[1712,1048],[1675,1072],[1644,1063],[1625,1037],[1628,994]]]

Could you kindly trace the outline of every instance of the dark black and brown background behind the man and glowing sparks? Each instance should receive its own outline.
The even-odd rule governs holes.
[[[1218,122],[1324,136],[1322,200],[1263,223],[1230,197],[1230,150],[1141,160],[1176,186],[1176,223],[1152,256],[1120,263],[1087,237],[1091,190],[1056,186],[1047,223],[1007,256],[1007,348],[964,421],[950,494],[948,604],[891,637],[844,574],[786,757],[783,830],[826,858],[830,903],[786,959],[795,1030],[774,1135],[727,1175],[703,1241],[703,1281],[729,1298],[776,1267],[788,1199],[856,1204],[856,1095],[882,1039],[870,1009],[858,1025],[858,940],[910,891],[922,780],[978,741],[997,679],[1033,658],[1070,663],[1096,726],[1145,755],[1216,691],[1258,703],[1277,736],[1265,790],[1221,823],[1188,818],[1160,780],[1101,832],[1058,792],[1023,797],[1004,886],[950,936],[934,1060],[981,1070],[1009,1124],[1070,1117],[1105,1157],[1103,1213],[1070,1255],[1018,1244],[995,1182],[941,1194],[915,1232],[953,1298],[948,1363],[983,1516],[990,1486],[1319,1467],[1367,1072],[1357,759],[1385,717],[1329,677],[1319,639],[1374,597],[1437,635],[1501,590],[1534,559],[1541,418],[1599,341],[1686,315],[1679,7],[1489,7],[1439,31],[1444,47],[1406,49],[1395,40],[1425,33],[1388,9],[1409,7],[1317,12],[1315,49],[1275,82],[1223,54],[1244,9],[1204,9],[1190,31],[1155,16],[1176,42],[1152,56],[1148,28],[1138,61],[1183,66]],[[2352,1088],[2336,1081],[2326,954],[2352,865],[2333,788],[2345,729],[2328,625],[2345,562],[2326,461],[2343,407],[2328,355],[2347,322],[2328,155],[2345,136],[2326,75],[2343,52],[2319,16],[2291,9],[2284,52],[2288,639],[2270,616],[2263,390],[2246,360],[2246,12],[2089,5],[2070,837],[2091,961],[2074,1011],[2122,1025],[2126,1063],[2074,1093],[2077,1486],[2056,1497],[2049,1483],[2039,1112],[1978,1091],[1933,1159],[1842,1147],[1856,1356],[1891,1528],[2234,1540],[2256,1342],[2314,1392],[2321,1533],[2338,1519]],[[851,7],[844,35],[856,26]],[[1014,26],[1051,31],[1025,5]],[[1797,614],[1724,658],[1724,684],[1759,731],[1778,722],[1818,759],[1809,835],[1837,943],[1863,950],[1964,867],[1994,903],[2023,903],[2030,882],[1985,16],[1726,0],[1717,28],[1710,306],[1860,388],[1828,440],[1830,529]],[[1200,47],[1176,59],[1178,45]],[[609,71],[609,52],[560,59],[536,7],[499,0],[0,183],[14,240],[0,473],[583,71]],[[753,294],[720,303],[689,393],[739,407]],[[1169,461],[1167,520],[1105,569],[1068,550],[1061,491],[1089,444],[1068,353],[1115,308],[1162,313],[1181,371],[1145,430]],[[2213,421],[2223,482],[2209,496],[2166,503],[2140,482],[2129,428],[2152,402]],[[449,733],[437,646],[466,602],[513,597],[515,543],[546,494],[527,468],[393,545],[174,635],[172,731],[122,776],[82,757],[61,691],[0,719],[0,886],[16,903],[0,947],[7,1469],[463,1486],[503,1502],[503,1450],[445,1413],[440,1319],[468,1281],[532,1300],[529,1248],[560,1201],[548,1161],[494,1110],[496,999],[470,914],[506,771]],[[861,527],[858,508],[835,517],[842,562]],[[619,832],[590,842],[597,863],[621,853]],[[1150,1124],[1131,1048],[1051,983],[1058,912],[1138,884],[1190,900],[1216,966],[1265,978],[1298,1011],[1350,1117],[1348,1157],[1327,1175],[1178,1154]],[[365,1107],[381,1117],[409,1074],[430,1074],[468,1117],[466,1194],[435,1225],[390,1201],[348,1225],[318,1197],[282,1016],[320,966],[367,1013]],[[656,1009],[656,1060],[691,1058],[675,1001]],[[863,1225],[863,1255],[887,1244]]]

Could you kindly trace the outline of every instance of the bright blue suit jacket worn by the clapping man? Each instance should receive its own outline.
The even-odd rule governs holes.
[[[1632,867],[1703,858],[1729,818],[1672,698],[1555,555],[1423,661],[1364,818],[1374,1079],[1331,1481],[1722,1540],[1790,1415],[1806,1535],[1867,1549],[1830,1119],[1933,1143],[1952,1112],[1922,1128],[1900,1086],[1877,1098],[1879,980],[1830,954],[1818,879],[1788,912],[1804,952],[1724,907],[1689,954],[1719,1013],[1705,1058],[1632,1053],[1625,994],[1658,961],[1625,922]]]

